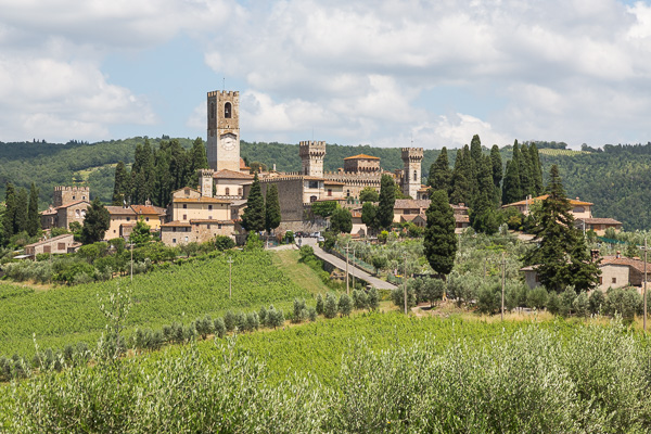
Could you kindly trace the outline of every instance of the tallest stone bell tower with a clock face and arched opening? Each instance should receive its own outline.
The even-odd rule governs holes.
[[[240,171],[240,92],[208,92],[206,155],[213,170]]]

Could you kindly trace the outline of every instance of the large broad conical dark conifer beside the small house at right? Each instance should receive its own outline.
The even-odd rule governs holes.
[[[569,285],[577,292],[589,291],[599,283],[598,264],[590,260],[583,233],[574,226],[557,165],[551,166],[549,178],[549,195],[534,210],[537,225],[533,232],[538,246],[525,255],[525,264],[536,266],[540,282],[549,291],[560,293]]]

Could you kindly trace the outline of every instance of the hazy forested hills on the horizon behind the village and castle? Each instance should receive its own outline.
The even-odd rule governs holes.
[[[150,139],[157,145],[159,139]],[[178,139],[190,149],[191,139]],[[52,190],[59,184],[86,183],[91,196],[99,195],[108,203],[113,192],[115,164],[133,162],[133,151],[144,138],[112,140],[98,143],[2,143],[0,142],[0,200],[4,197],[4,184],[11,181],[18,188],[29,188],[35,182],[40,189],[41,207],[51,202]],[[603,151],[575,152],[564,149],[541,149],[540,162],[544,174],[552,164],[559,165],[567,195],[580,196],[595,203],[596,217],[612,217],[625,225],[625,229],[651,229],[651,144],[605,145]],[[295,171],[301,168],[297,144],[242,141],[242,156],[251,164],[260,162],[278,170]],[[426,150],[423,157],[423,176],[438,156],[437,150]],[[486,149],[485,152],[488,152]],[[511,146],[501,151],[502,159],[511,157]],[[328,144],[324,168],[336,170],[343,159],[356,154],[369,154],[382,158],[382,168],[401,168],[399,148],[371,148],[369,145]],[[454,164],[456,152],[449,152]]]

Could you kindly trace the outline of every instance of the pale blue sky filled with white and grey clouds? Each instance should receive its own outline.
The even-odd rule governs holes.
[[[0,141],[651,140],[651,0],[0,0]]]

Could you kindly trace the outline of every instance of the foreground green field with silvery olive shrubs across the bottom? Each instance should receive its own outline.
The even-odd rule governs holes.
[[[617,322],[370,314],[43,373],[0,394],[0,429],[642,433],[648,344]]]

